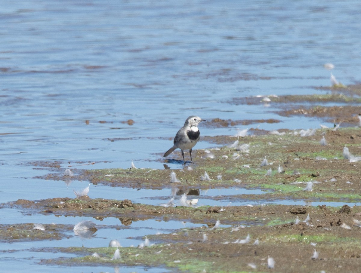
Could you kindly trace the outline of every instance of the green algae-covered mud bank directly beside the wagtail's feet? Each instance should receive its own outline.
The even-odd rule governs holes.
[[[184,169],[174,170],[103,169],[85,171],[84,176],[94,184],[102,183],[132,188],[245,187],[278,191],[278,194],[284,194],[284,198],[287,198],[288,195],[291,198],[355,200],[359,198],[358,194],[337,192],[339,188],[344,188],[340,182],[336,182],[330,187],[330,184],[321,181],[321,184],[314,185],[315,190],[312,193],[302,193],[305,185],[292,185],[292,183],[319,179],[329,180],[332,177],[338,177],[339,181],[351,181],[354,184],[354,190],[359,189],[360,185],[356,185],[359,181],[356,182],[356,180],[358,180],[357,168],[360,163],[350,164],[347,159],[343,159],[342,155],[345,145],[351,148],[353,144],[356,144],[358,131],[355,128],[340,128],[337,131],[319,129],[309,137],[300,137],[293,131],[286,131],[283,135],[247,136],[240,139],[240,144],[249,144],[247,152],[236,151],[235,148],[225,146],[211,150],[214,159],[207,158],[205,160],[200,156],[203,157],[206,153],[203,150],[197,150],[195,158],[197,163],[192,165],[193,170],[191,171],[187,169],[187,166]],[[326,139],[332,144],[320,145],[319,139],[322,136],[326,136]],[[235,137],[228,137],[228,139],[231,143],[237,140]],[[240,158],[232,159],[233,154],[240,155]],[[228,158],[224,158],[224,155],[227,155]],[[174,156],[179,157],[179,153],[174,153]],[[260,164],[265,157],[269,164],[261,167]],[[283,173],[277,172],[278,166],[282,167]],[[265,176],[270,168],[271,175]],[[170,173],[173,171],[176,173],[179,183],[170,182]],[[298,173],[294,174],[295,171]],[[201,179],[205,172],[210,177],[209,181]],[[217,179],[218,175],[222,175],[222,180]],[[280,195],[278,196],[280,197]],[[252,199],[257,198],[264,197],[257,196]]]

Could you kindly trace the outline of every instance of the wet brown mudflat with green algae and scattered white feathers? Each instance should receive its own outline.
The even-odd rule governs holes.
[[[83,171],[72,168],[74,176],[71,179],[114,188],[169,188],[179,195],[188,193],[189,198],[200,190],[211,188],[261,189],[263,194],[235,192],[221,198],[228,198],[230,202],[354,202],[354,206],[268,204],[197,207],[188,204],[180,206],[166,199],[164,204],[152,206],[127,199],[91,199],[83,196],[37,201],[20,199],[1,204],[1,207],[16,207],[25,213],[86,216],[98,220],[116,217],[123,225],[145,219],[203,224],[199,228],[184,228],[171,234],[149,235],[149,245],[119,247],[120,256],[117,259],[113,256],[117,248],[106,246],[33,250],[57,253],[58,258],[43,259],[43,264],[144,265],[177,272],[358,272],[361,265],[361,207],[358,206],[361,200],[361,130],[357,117],[361,112],[357,105],[360,88],[329,88],[329,91],[331,94],[324,96],[270,97],[268,103],[287,108],[282,110],[285,115],[314,115],[322,119],[335,119],[337,123],[347,123],[351,127],[273,132],[254,129],[244,137],[204,137],[204,140],[222,147],[195,149],[192,153],[193,164],[187,162],[183,166],[181,153],[175,151],[168,159],[160,154],[159,160],[164,163],[164,169]],[[344,105],[301,107],[305,102]],[[264,101],[260,98],[240,98],[235,99],[234,103]],[[243,122],[215,119],[207,126],[230,127]],[[179,163],[179,169],[170,169],[169,162]],[[60,168],[59,162],[31,164],[36,168],[52,170],[39,178],[69,179],[64,176],[65,170]],[[172,182],[172,172],[178,182]],[[34,230],[33,226],[0,226],[2,241],[58,239],[71,228],[55,225],[46,227],[51,229]],[[95,252],[98,254],[96,257],[92,256]],[[74,253],[76,257],[65,259],[62,253]],[[268,264],[269,257],[274,259],[274,268]]]

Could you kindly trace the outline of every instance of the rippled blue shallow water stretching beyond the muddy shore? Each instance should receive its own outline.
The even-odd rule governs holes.
[[[62,168],[97,162],[76,167],[86,169],[128,168],[133,160],[137,167],[163,168],[162,153],[192,114],[204,119],[282,120],[260,124],[268,130],[317,128],[319,120],[280,117],[272,105],[230,101],[257,94],[325,93],[313,87],[330,85],[326,62],[335,65],[332,73],[343,84],[360,80],[361,3],[356,0],[258,0],[242,5],[33,0],[0,7],[5,26],[0,31],[2,202],[73,197],[73,188],[88,184],[32,178],[54,170],[29,162],[58,160]],[[126,123],[129,119],[133,125]],[[237,129],[200,128],[208,136],[235,135]],[[203,141],[196,148],[209,146],[214,145]],[[151,204],[170,195],[166,190],[114,192],[91,186],[89,195]],[[220,205],[208,198],[216,194],[203,195],[200,202]],[[1,218],[15,223],[12,213],[2,209]],[[23,220],[48,222],[38,217]],[[143,224],[145,235],[148,224]],[[27,259],[21,264],[48,270]]]

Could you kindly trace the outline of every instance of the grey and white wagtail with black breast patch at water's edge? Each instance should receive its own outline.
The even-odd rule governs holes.
[[[163,157],[166,157],[175,149],[179,148],[182,151],[183,162],[184,164],[186,164],[186,161],[184,160],[183,150],[189,150],[192,163],[192,148],[194,147],[194,145],[197,144],[199,140],[200,132],[197,126],[201,121],[205,121],[205,119],[201,119],[199,116],[188,117],[186,122],[184,123],[184,126],[179,129],[177,135],[175,135],[173,147],[166,151]]]

